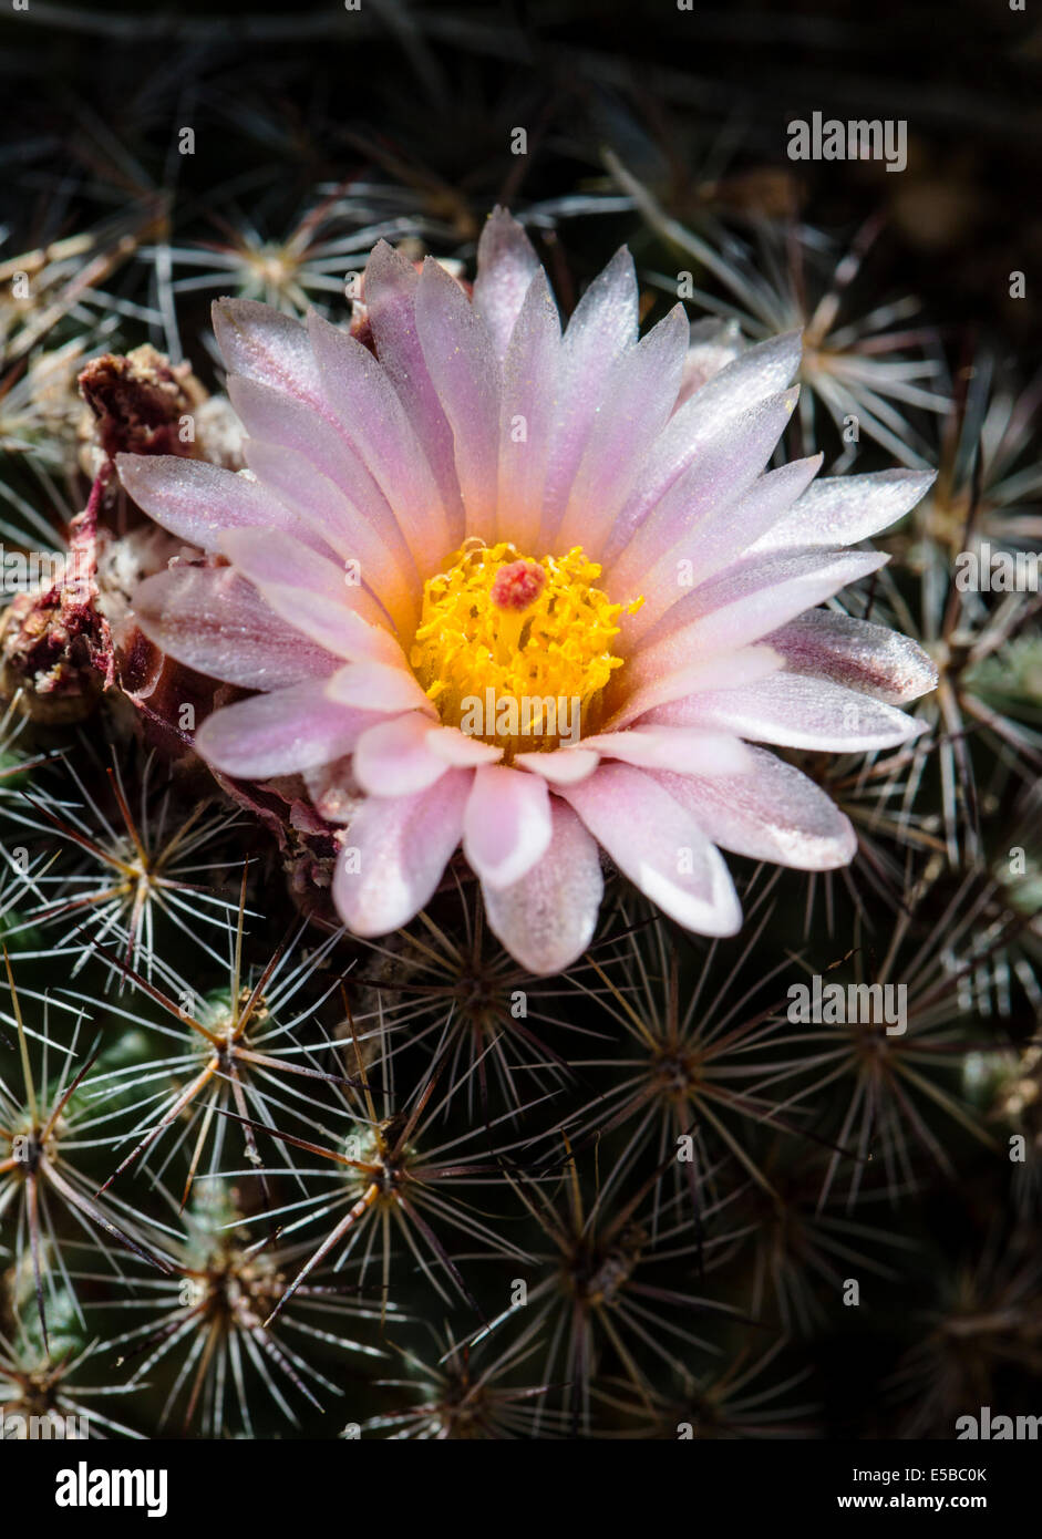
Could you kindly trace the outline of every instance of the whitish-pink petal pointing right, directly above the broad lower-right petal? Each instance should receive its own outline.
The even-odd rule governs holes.
[[[857,689],[791,673],[777,673],[740,689],[690,696],[679,705],[654,711],[653,719],[671,726],[737,733],[756,743],[819,748],[837,754],[896,748],[919,737],[927,726]],[[694,766],[694,773],[702,771]]]

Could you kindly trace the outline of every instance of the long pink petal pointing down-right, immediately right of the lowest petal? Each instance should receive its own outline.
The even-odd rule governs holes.
[[[742,910],[720,853],[657,774],[602,763],[588,780],[559,794],[623,876],[663,913],[686,930],[733,936]]]

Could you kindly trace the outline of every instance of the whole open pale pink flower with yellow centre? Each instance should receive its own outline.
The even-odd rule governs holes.
[[[742,922],[717,846],[851,860],[833,802],[750,743],[917,736],[894,706],[936,682],[925,654],[816,606],[883,565],[851,546],[931,477],[814,480],[820,456],[765,472],[797,334],[691,388],[680,305],[637,337],[626,251],[562,334],[499,209],[473,300],[383,243],[365,300],[376,354],[314,314],[217,303],[246,472],[120,459],[142,508],[226,562],[174,563],[135,597],[163,651],[259,691],[202,725],[199,753],[254,780],[351,756],[365,799],[334,882],[351,930],[405,925],[462,843],[494,933],[554,973],[594,933],[600,848],[713,936]]]

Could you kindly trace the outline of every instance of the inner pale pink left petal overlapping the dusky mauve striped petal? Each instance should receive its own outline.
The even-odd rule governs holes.
[[[400,646],[365,588],[334,562],[277,529],[229,529],[220,546],[283,620],[339,657],[396,662]]]

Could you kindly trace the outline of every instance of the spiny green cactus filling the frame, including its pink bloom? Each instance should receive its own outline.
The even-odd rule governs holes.
[[[199,197],[143,105],[75,226],[15,177],[0,1431],[1030,1416],[1039,389],[1002,305],[976,339],[908,297],[911,242],[879,277],[885,175],[797,219],[753,120],[677,183],[596,92],[508,212],[466,95],[473,175],[352,129],[331,183],[232,78]],[[956,580],[996,548],[1010,583]]]

